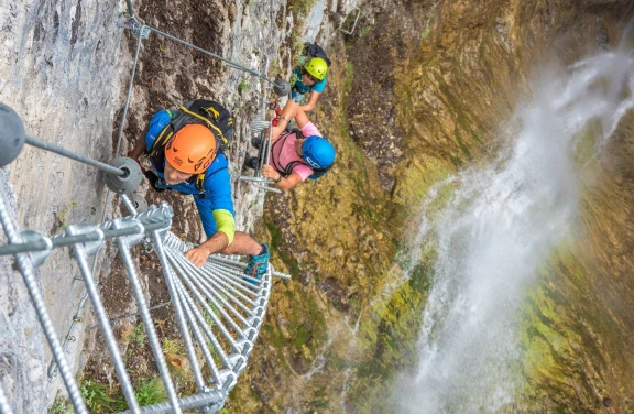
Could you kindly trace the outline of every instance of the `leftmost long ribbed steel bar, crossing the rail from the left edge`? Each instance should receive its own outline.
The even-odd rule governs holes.
[[[13,226],[9,214],[4,207],[4,200],[0,197],[0,221],[2,222],[2,227],[4,228],[4,233],[7,235],[7,239],[10,243],[17,243],[20,241],[20,238],[17,233],[17,229]],[[81,394],[79,393],[79,388],[77,386],[77,381],[75,380],[75,375],[70,372],[70,367],[66,361],[66,357],[64,356],[64,351],[62,350],[62,346],[59,345],[59,340],[57,339],[57,334],[53,328],[53,322],[48,316],[46,310],[46,305],[44,305],[44,297],[37,287],[37,281],[33,274],[34,270],[31,264],[31,260],[24,254],[15,254],[15,262],[18,263],[18,269],[24,279],[24,284],[26,285],[26,290],[29,291],[29,295],[31,296],[31,301],[33,302],[33,306],[35,307],[35,312],[37,313],[37,318],[40,319],[40,324],[44,329],[44,335],[46,336],[46,340],[51,346],[51,351],[53,352],[53,358],[57,362],[59,367],[59,371],[62,371],[62,378],[64,383],[66,384],[66,390],[68,390],[68,395],[70,396],[70,401],[75,411],[79,414],[88,413],[86,408],[86,404],[81,399]]]

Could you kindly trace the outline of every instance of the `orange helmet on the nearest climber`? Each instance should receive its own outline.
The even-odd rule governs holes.
[[[200,174],[215,157],[216,137],[199,123],[183,127],[165,145],[165,159],[183,173]]]

